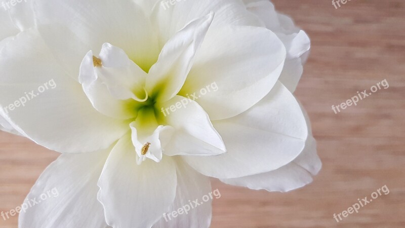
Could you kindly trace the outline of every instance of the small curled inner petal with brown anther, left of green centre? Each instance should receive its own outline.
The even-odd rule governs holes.
[[[123,50],[110,44],[103,45],[98,57],[102,66],[94,66],[93,56],[90,51],[83,59],[79,82],[94,108],[116,119],[136,117],[136,101],[147,99],[143,88],[146,73]]]

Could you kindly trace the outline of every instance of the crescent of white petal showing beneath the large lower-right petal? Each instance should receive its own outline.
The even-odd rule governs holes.
[[[311,183],[312,175],[316,175],[321,166],[319,157],[316,155],[315,139],[310,136],[302,153],[293,162],[267,173],[221,179],[221,181],[255,190],[266,189],[269,192],[288,192]]]

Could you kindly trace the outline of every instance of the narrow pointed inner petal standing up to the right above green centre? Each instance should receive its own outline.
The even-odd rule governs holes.
[[[190,22],[166,43],[146,80],[150,96],[164,102],[180,91],[213,18],[210,13]]]

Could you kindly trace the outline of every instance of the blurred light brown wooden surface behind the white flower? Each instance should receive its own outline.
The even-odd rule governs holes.
[[[309,112],[323,168],[290,193],[214,181],[212,227],[405,227],[405,1],[274,0],[311,37],[296,92]],[[335,115],[331,106],[387,79],[389,88]],[[0,133],[0,211],[15,208],[57,153]],[[383,185],[382,195],[337,223],[340,213]],[[0,219],[17,227],[17,217]],[[181,227],[183,228],[183,227]]]

